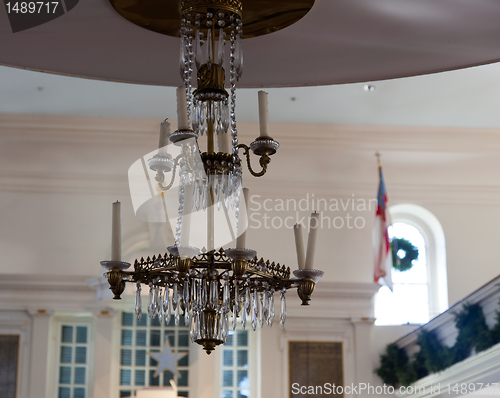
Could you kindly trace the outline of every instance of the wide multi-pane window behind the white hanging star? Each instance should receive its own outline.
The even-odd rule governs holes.
[[[180,325],[183,325],[181,317]],[[142,316],[140,320],[131,312],[122,312],[120,336],[120,397],[135,396],[135,392],[144,387],[170,386],[174,379],[179,388],[178,395],[189,396],[189,354],[179,359],[177,369],[179,376],[170,371],[162,372],[154,377],[157,362],[148,353],[163,350],[165,336],[168,336],[172,352],[189,351],[189,329],[186,326],[175,326],[174,317],[168,325],[160,324],[158,317],[149,319]]]

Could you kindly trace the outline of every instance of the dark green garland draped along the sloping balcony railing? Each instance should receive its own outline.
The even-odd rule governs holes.
[[[462,311],[455,314],[455,326],[458,336],[453,347],[442,344],[434,331],[420,332],[417,338],[420,351],[411,361],[404,349],[389,344],[375,373],[385,384],[408,386],[429,373],[463,361],[473,349],[481,352],[500,342],[500,312],[497,311],[496,324],[490,330],[479,304],[464,304]]]

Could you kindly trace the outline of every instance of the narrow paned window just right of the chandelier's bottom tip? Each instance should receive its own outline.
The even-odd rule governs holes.
[[[230,331],[222,347],[221,398],[250,397],[248,331]]]

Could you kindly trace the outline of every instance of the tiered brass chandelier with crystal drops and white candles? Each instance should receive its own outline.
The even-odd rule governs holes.
[[[178,128],[171,133],[167,120],[161,124],[158,152],[148,161],[161,198],[169,192],[176,198],[175,243],[166,254],[136,260],[133,271],[128,271],[130,264],[121,261],[120,203],[116,202],[112,259],[101,262],[114,299],[120,299],[126,283],[136,284],[135,312],[140,318],[142,285],[146,285],[148,316],[169,323],[173,314],[176,325],[184,318],[191,340],[208,354],[227,341],[230,329],[238,323],[243,329],[251,325],[253,330],[258,325],[272,326],[275,296],[283,328],[286,291],[296,288],[302,305],[308,305],[323,275],[312,269],[318,214],[310,219],[307,256],[301,226],[295,227],[299,269],[293,276],[290,268],[259,259],[255,250],[245,247],[248,190],[242,188],[239,150],[243,150],[250,173],[260,177],[279,144],[267,131],[267,93],[263,91],[259,92],[260,136],[249,146],[238,143],[235,87],[243,73],[242,12],[239,0],[180,2],[183,86],[177,90]],[[225,89],[226,68],[229,92]],[[193,90],[194,70],[197,82]],[[202,137],[206,139],[203,152]],[[259,157],[261,170],[252,168],[250,152]],[[195,219],[200,214],[203,223]],[[224,220],[229,228],[219,228]],[[193,235],[200,231],[204,232],[202,243],[193,244]],[[224,234],[225,238],[218,239]],[[220,247],[233,238],[236,248]]]

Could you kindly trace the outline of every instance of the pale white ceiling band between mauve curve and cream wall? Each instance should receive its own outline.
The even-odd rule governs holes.
[[[500,127],[500,64],[369,84],[269,89],[270,122]],[[256,91],[237,91],[238,120],[257,121]],[[175,119],[175,110],[174,88],[0,67],[0,112]]]

